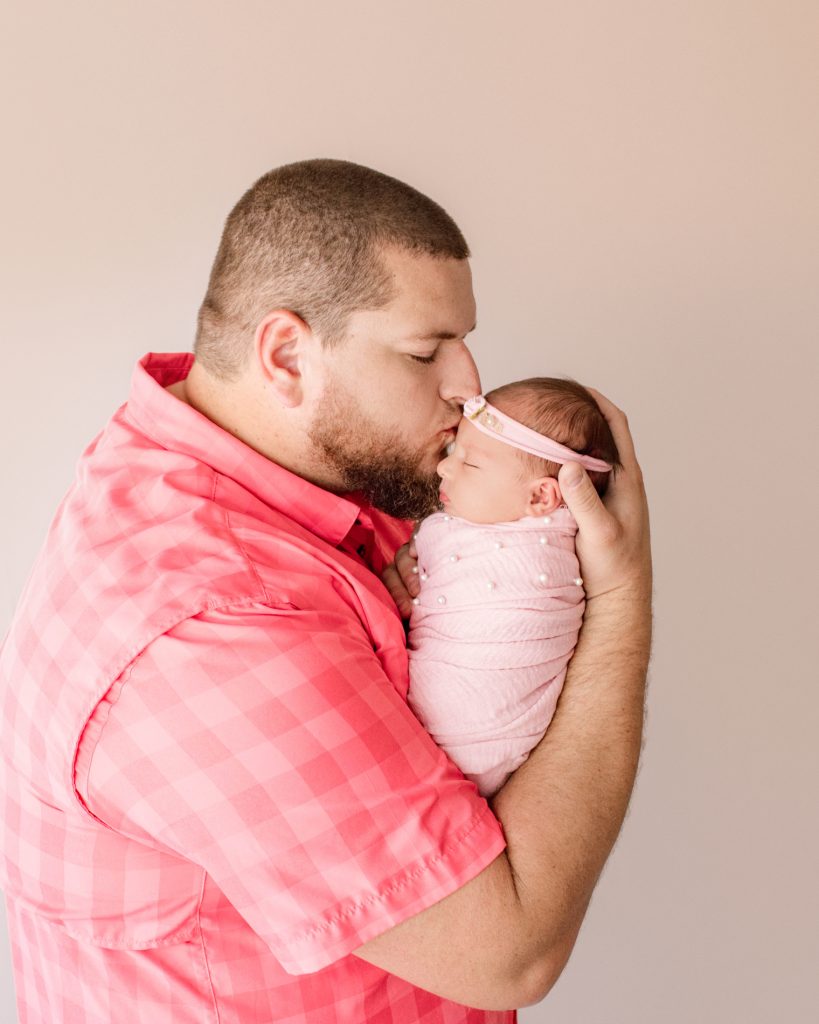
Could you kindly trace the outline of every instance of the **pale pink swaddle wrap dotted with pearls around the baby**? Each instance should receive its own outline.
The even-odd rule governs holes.
[[[561,507],[511,523],[435,513],[416,538],[408,701],[483,796],[554,715],[585,607],[576,531]]]

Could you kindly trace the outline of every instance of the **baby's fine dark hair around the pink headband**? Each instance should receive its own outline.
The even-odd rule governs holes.
[[[619,466],[619,453],[611,428],[594,395],[583,384],[557,377],[530,377],[494,388],[485,396],[502,413],[530,430],[565,444],[578,455],[603,459]],[[527,469],[557,476],[560,466],[548,459],[520,453]],[[606,493],[611,473],[592,471],[589,477],[599,495]]]

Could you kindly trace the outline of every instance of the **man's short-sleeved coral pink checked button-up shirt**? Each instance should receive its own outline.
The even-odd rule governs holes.
[[[20,1021],[508,1024],[352,954],[505,845],[406,705],[405,525],[174,398],[191,359],[137,366],[0,654]]]

